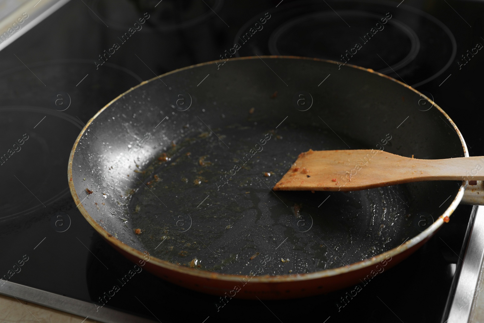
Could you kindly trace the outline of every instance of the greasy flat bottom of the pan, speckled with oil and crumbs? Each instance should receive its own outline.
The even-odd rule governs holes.
[[[298,274],[370,258],[412,233],[405,185],[273,192],[301,152],[346,147],[318,127],[273,126],[259,120],[213,132],[186,129],[183,139],[139,170],[144,184],[129,213],[151,255],[194,270]],[[368,148],[343,138],[354,149]]]

